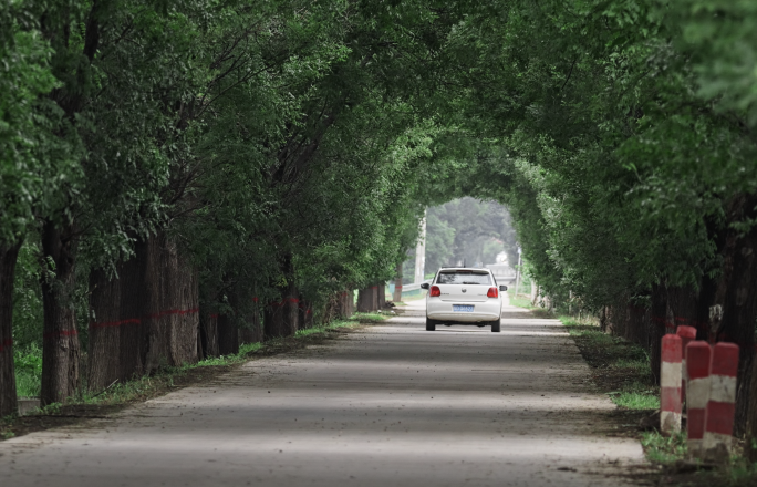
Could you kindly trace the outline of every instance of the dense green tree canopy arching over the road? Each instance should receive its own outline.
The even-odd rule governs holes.
[[[166,336],[198,329],[206,353],[212,317],[243,325],[260,307],[288,334],[276,305],[329,315],[393,277],[426,206],[470,196],[507,206],[552,302],[687,321],[739,343],[747,377],[756,24],[725,0],[3,0],[0,352],[12,308],[43,302],[38,328],[61,343],[42,394],[63,400],[103,322],[195,302],[175,282],[200,317]],[[30,276],[40,289],[13,291]],[[138,312],[129,276],[152,276]]]

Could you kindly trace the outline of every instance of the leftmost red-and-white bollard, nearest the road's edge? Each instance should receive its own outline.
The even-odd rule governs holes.
[[[668,333],[662,340],[660,371],[660,431],[681,431],[681,336]]]

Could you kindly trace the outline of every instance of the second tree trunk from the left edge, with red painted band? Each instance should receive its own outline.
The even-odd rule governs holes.
[[[55,277],[42,279],[44,309],[41,404],[62,403],[79,391],[79,335],[72,302],[75,289],[74,229],[59,229],[52,221],[42,228],[44,258]]]

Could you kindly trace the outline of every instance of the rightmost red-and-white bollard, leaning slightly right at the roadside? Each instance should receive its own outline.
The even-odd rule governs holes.
[[[705,413],[704,456],[719,460],[729,455],[736,412],[738,345],[717,343],[709,366],[709,401]]]

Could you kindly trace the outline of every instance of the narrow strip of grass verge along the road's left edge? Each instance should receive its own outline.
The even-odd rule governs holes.
[[[373,318],[376,320],[385,319],[381,315]],[[320,343],[333,338],[334,333],[344,333],[344,329],[357,328],[361,322],[369,322],[367,318],[356,315],[351,320],[333,321],[324,327],[300,330],[294,336],[274,339],[262,343],[247,343],[241,345],[239,352],[235,354],[209,358],[180,366],[165,366],[152,375],[135,377],[123,383],[114,382],[103,391],[84,391],[75,397],[69,398],[65,404],[53,403],[23,416],[10,415],[0,418],[0,439],[74,424],[82,418],[103,417],[131,404],[211,380],[219,373],[228,372],[256,356],[273,355]],[[39,395],[39,379],[29,379],[24,387],[24,393],[35,392],[34,395]],[[21,391],[21,388],[19,390]]]

